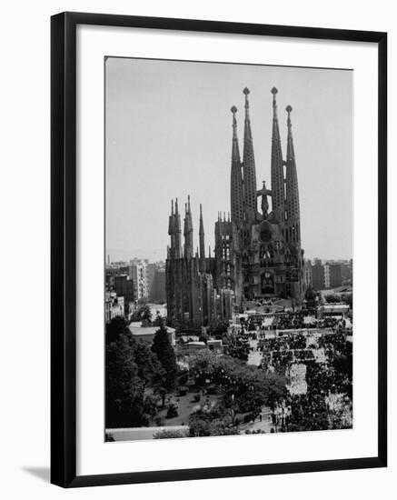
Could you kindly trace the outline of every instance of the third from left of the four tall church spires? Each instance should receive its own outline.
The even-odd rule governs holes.
[[[273,134],[272,134],[272,210],[277,222],[284,220],[284,175],[283,153],[280,140],[280,130],[277,118],[277,103],[275,95],[277,89],[273,87]]]

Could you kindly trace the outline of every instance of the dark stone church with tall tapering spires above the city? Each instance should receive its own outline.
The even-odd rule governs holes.
[[[232,107],[230,213],[218,213],[215,248],[205,255],[203,208],[199,246],[194,252],[190,196],[184,206],[184,242],[178,200],[172,201],[165,268],[168,323],[200,328],[232,318],[249,301],[290,299],[300,306],[304,294],[304,261],[298,176],[291,113],[286,107],[287,145],[283,160],[273,87],[271,187],[257,186],[248,88],[244,95],[243,159],[237,135],[237,108]],[[269,205],[271,201],[271,205]],[[260,211],[258,211],[260,205]],[[270,210],[271,208],[271,210]]]

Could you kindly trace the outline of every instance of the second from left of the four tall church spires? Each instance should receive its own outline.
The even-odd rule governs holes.
[[[245,121],[243,145],[243,196],[244,212],[247,222],[253,222],[256,217],[256,172],[255,158],[253,156],[253,135],[251,132],[250,105],[247,87],[243,89],[245,95]]]

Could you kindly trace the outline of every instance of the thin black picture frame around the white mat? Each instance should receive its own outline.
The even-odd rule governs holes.
[[[365,42],[378,46],[378,454],[311,462],[76,475],[76,26],[103,25]],[[51,18],[51,482],[63,487],[384,467],[387,465],[387,34],[62,13]]]

